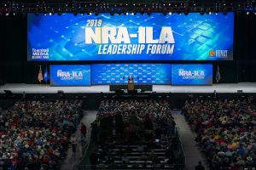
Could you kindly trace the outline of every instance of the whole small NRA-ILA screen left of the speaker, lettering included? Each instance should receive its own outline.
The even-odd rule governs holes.
[[[51,86],[90,86],[90,65],[50,65]]]

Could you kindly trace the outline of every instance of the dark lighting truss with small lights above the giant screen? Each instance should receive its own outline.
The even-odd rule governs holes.
[[[15,1],[16,2],[16,1]],[[35,3],[15,3],[0,2],[0,15],[9,16],[17,14],[218,14],[219,12],[244,12],[245,14],[256,14],[255,0],[236,0],[236,1],[171,1],[171,0],[142,0],[142,1],[119,1],[119,0],[101,0],[101,1],[65,1],[61,0],[32,1]],[[37,3],[38,2],[38,3]]]

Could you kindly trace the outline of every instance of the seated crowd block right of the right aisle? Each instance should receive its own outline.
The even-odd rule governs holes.
[[[255,169],[255,113],[251,99],[191,99],[183,106],[211,169]]]

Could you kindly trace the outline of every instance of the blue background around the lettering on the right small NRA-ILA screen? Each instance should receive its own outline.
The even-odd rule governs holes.
[[[178,75],[179,69],[184,71],[204,71],[203,79],[189,78],[183,79]],[[211,85],[212,84],[212,65],[172,65],[172,85]]]

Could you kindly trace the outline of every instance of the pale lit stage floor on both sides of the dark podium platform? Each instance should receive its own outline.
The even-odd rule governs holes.
[[[109,85],[90,86],[90,87],[50,87],[49,85],[39,84],[5,84],[0,88],[0,94],[3,90],[10,90],[14,94],[55,94],[58,90],[63,90],[68,94],[88,94],[88,93],[113,93],[109,91]],[[241,82],[229,84],[213,84],[212,86],[171,86],[154,85],[153,91],[156,93],[256,93],[256,82]]]

